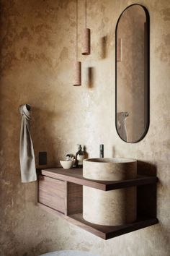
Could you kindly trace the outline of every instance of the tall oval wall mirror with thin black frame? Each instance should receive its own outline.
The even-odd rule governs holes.
[[[149,126],[149,14],[133,4],[116,26],[116,128],[125,142],[143,139]]]

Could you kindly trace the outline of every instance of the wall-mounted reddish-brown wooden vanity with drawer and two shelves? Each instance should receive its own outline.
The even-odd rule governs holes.
[[[38,171],[38,206],[102,239],[110,239],[158,223],[153,211],[156,202],[148,195],[150,188],[156,191],[156,182],[155,176],[103,182],[85,179],[81,168],[46,168]],[[137,221],[120,226],[102,226],[85,221],[82,215],[83,186],[103,191],[136,186]]]

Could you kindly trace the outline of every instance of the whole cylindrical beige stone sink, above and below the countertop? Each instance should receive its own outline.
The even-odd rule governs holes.
[[[118,181],[136,178],[137,161],[128,158],[84,160],[86,179]],[[99,225],[122,225],[136,219],[136,187],[102,191],[84,186],[83,217]]]

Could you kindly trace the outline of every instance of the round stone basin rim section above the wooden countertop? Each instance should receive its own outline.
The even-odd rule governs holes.
[[[84,160],[83,176],[105,181],[134,179],[136,163],[135,159],[130,158],[89,158]]]

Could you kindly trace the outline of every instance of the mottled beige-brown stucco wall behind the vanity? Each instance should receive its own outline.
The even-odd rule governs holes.
[[[56,249],[91,250],[101,256],[169,255],[170,2],[138,1],[151,17],[151,124],[137,144],[120,140],[115,129],[115,25],[135,1],[87,2],[91,56],[81,56],[83,86],[74,88],[75,1],[1,1],[1,256]],[[39,150],[47,150],[48,166],[75,153],[79,143],[86,145],[89,156],[98,156],[104,143],[105,156],[137,158],[155,166],[159,224],[104,241],[37,208],[36,184],[20,182],[22,103],[32,106],[36,158]]]

